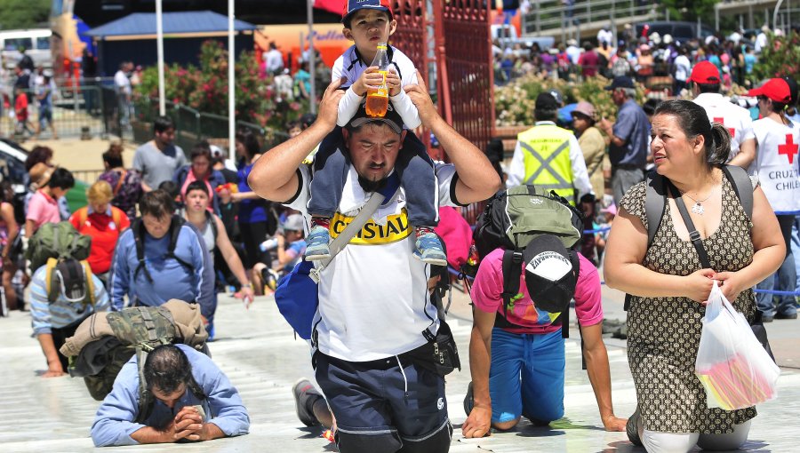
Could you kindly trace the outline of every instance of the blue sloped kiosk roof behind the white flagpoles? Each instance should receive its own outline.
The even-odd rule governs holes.
[[[228,31],[228,18],[212,11],[164,12],[164,35],[216,34]],[[257,27],[244,20],[234,20],[234,30],[255,30]],[[86,32],[88,36],[100,39],[141,39],[142,36],[156,35],[156,13],[134,12],[122,19],[108,22]]]

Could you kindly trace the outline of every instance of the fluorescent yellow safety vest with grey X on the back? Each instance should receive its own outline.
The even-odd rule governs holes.
[[[571,137],[571,131],[555,124],[540,124],[520,133],[516,139],[523,149],[524,184],[532,184],[548,194],[553,190],[574,205]]]

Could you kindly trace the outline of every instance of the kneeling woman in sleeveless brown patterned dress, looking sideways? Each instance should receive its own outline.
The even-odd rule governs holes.
[[[712,268],[701,268],[672,198],[648,249],[644,183],[631,187],[614,220],[604,269],[610,287],[634,296],[628,362],[640,415],[631,417],[628,435],[650,452],[683,453],[695,443],[737,449],[747,441],[756,409],[706,406],[694,376],[701,319],[714,280],[737,310],[753,318],[752,287],[775,272],[785,254],[780,227],[755,183],[752,222],[748,219],[721,170],[730,151],[728,131],[710,124],[702,107],[685,100],[662,103],[651,135],[656,171],[692,206],[690,217]]]

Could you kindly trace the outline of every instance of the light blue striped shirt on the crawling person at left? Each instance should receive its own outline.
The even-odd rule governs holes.
[[[62,294],[52,304],[47,300],[47,284],[44,281],[47,266],[36,269],[30,282],[30,316],[34,336],[43,333],[52,333],[52,329],[67,327],[73,322],[80,321],[95,311],[105,312],[110,308],[110,299],[103,283],[92,274],[94,282],[94,306],[87,306],[81,302],[69,302]]]

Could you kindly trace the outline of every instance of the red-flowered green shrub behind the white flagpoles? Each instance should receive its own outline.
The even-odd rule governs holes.
[[[164,67],[164,96],[173,104],[183,104],[207,114],[228,115],[228,51],[218,41],[206,41],[199,55],[200,66],[177,64]],[[272,77],[260,78],[253,52],[239,54],[234,68],[236,78],[236,120],[283,130],[284,124],[308,111],[308,101],[278,102]],[[134,94],[138,105],[158,97],[158,70],[146,68]]]

